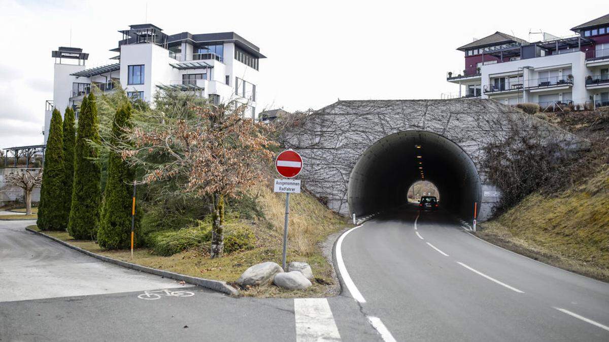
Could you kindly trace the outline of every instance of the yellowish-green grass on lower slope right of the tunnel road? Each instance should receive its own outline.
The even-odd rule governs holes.
[[[609,281],[609,166],[559,194],[532,194],[479,236],[518,253]]]

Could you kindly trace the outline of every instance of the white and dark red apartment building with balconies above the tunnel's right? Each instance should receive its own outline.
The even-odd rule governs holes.
[[[535,43],[495,32],[458,47],[465,66],[446,80],[459,85],[459,97],[507,105],[609,105],[609,14],[571,30]]]

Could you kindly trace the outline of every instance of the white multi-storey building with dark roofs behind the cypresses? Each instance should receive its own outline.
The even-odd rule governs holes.
[[[78,112],[91,87],[107,92],[120,84],[128,96],[147,102],[158,89],[193,91],[214,103],[246,104],[245,116],[256,118],[259,60],[266,58],[258,46],[234,32],[167,35],[152,24],[119,32],[122,39],[110,50],[118,55],[108,65],[86,68],[89,54],[76,47],[52,52],[54,89],[45,108],[45,144],[53,108],[63,114],[71,106]]]

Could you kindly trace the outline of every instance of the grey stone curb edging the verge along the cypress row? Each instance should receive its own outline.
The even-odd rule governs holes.
[[[193,285],[198,285],[200,287],[209,288],[209,290],[226,293],[227,295],[239,296],[239,291],[236,290],[236,288],[232,287],[231,285],[228,285],[227,283],[225,283],[223,281],[214,281],[211,279],[191,277],[191,276],[186,276],[185,274],[174,273],[174,272],[170,272],[170,271],[163,271],[163,270],[159,270],[158,268],[146,267],[146,266],[142,266],[142,265],[137,265],[136,263],[113,259],[111,257],[102,256],[97,253],[83,250],[80,247],[70,245],[69,243],[67,243],[65,241],[59,240],[52,236],[48,236],[48,235],[44,234],[43,232],[38,232],[38,231],[35,231],[35,230],[27,228],[27,227],[26,227],[26,231],[33,232],[34,234],[38,234],[38,235],[47,237],[48,239],[51,239],[55,242],[61,243],[64,246],[72,248],[72,250],[77,250],[80,253],[86,254],[88,256],[94,257],[96,259],[99,259],[99,260],[102,260],[105,262],[114,263],[115,265],[119,265],[119,266],[126,267],[126,268],[131,268],[132,270],[155,274],[157,276],[166,277],[169,279],[175,279],[178,281],[188,282],[188,284],[193,284]]]

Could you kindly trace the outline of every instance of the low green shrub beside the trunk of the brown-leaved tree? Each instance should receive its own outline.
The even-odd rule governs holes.
[[[146,237],[146,245],[152,253],[171,256],[211,241],[211,228],[184,228],[178,231],[152,232]]]

